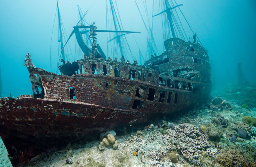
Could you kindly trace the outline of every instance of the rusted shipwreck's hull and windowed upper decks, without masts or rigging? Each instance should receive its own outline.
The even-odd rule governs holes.
[[[202,103],[211,90],[207,51],[178,38],[166,40],[165,47],[143,66],[90,55],[61,65],[62,75],[36,68],[28,56],[24,66],[33,95],[0,100],[0,135],[8,151],[18,157],[26,151],[19,158],[26,161],[44,139],[86,136]]]

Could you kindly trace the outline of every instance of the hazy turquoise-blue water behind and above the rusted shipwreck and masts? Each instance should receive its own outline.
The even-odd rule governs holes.
[[[114,5],[118,6],[120,13],[118,17],[122,20],[123,30],[141,32],[141,34],[136,33],[125,36],[133,58],[139,61],[141,53],[144,59],[147,60],[150,57],[147,54],[147,31],[135,2],[117,1],[115,3],[114,0],[113,2]],[[152,15],[161,11],[162,0],[154,0],[154,5],[153,0],[147,0],[149,21],[146,19],[144,10],[145,1],[137,0],[136,2],[141,9],[146,24],[149,23],[151,25]],[[245,88],[243,91],[248,91],[243,92],[241,91],[243,88],[236,88],[236,85],[238,85],[238,63],[242,63],[241,69],[248,81],[248,85],[252,86],[256,83],[256,1],[177,0],[177,3],[183,4],[180,7],[183,14],[193,27],[204,48],[208,50],[212,69],[212,96],[222,95],[229,100],[232,100],[230,97],[233,97],[235,104],[232,105],[237,105],[236,107],[242,111],[235,113],[240,121],[240,117],[242,118],[244,115],[255,117],[255,112],[249,112],[248,109],[245,110],[241,107],[242,104],[246,104],[252,111],[255,111],[255,100],[247,94],[255,91],[255,87]],[[80,19],[77,5],[80,5],[84,13],[88,10],[85,16],[87,23],[95,22],[99,30],[114,30],[114,23],[110,18],[109,1],[59,1],[61,20],[65,28],[63,29],[64,43],[72,32],[72,27]],[[153,22],[153,36],[159,54],[165,51],[163,42],[170,36],[170,32],[166,32],[163,29],[168,22],[163,26],[162,19],[165,19],[165,16],[157,16],[154,17]],[[2,0],[0,22],[1,96],[8,97],[11,94],[11,96],[17,97],[21,94],[32,94],[28,71],[23,66],[24,57],[27,53],[31,55],[32,62],[36,67],[60,74],[59,70],[57,70],[61,54],[58,42],[59,30],[56,1]],[[186,22],[182,24],[186,35],[192,41],[193,33],[190,31],[190,27],[186,25]],[[117,46],[116,42],[108,42],[108,40],[110,40],[108,34],[97,34],[97,43],[100,44],[107,58],[113,56],[115,51],[113,47]],[[129,49],[126,47],[126,50]],[[66,61],[73,62],[84,58],[84,54],[79,49],[74,36],[71,37],[64,51],[67,56]],[[121,53],[118,49],[116,51],[119,61]],[[131,56],[125,57],[130,63],[133,62],[133,58]],[[95,74],[97,74],[97,71],[95,71]],[[233,87],[230,91],[228,90],[230,85],[233,85],[237,90],[230,93],[234,90]],[[223,91],[226,91],[227,94],[226,92],[223,94]],[[243,92],[242,100],[239,99],[241,97],[237,92]],[[254,94],[255,92],[253,92]],[[76,99],[76,97],[73,96],[73,99]],[[70,115],[66,111],[63,111],[62,114]],[[7,154],[6,151],[4,154]],[[7,164],[9,164],[9,161],[6,160]]]

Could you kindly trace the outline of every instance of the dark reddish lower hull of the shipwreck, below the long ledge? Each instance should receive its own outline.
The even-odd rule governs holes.
[[[120,131],[163,115],[157,110],[138,112],[83,102],[33,99],[31,95],[0,101],[0,136],[9,156],[14,158],[13,165],[29,161],[51,147],[95,139],[108,129]]]

